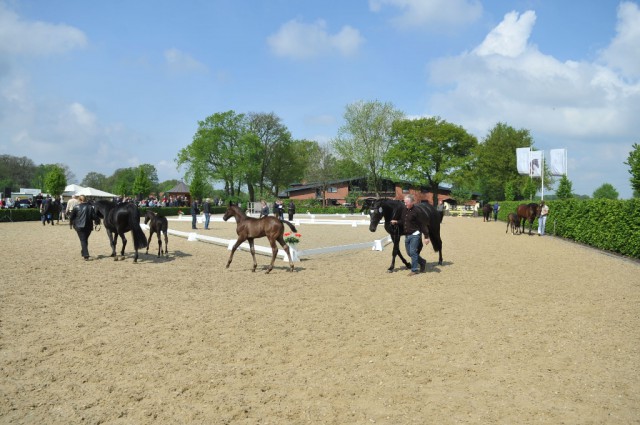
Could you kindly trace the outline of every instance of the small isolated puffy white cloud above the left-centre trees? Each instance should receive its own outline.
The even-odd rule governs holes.
[[[360,32],[348,25],[334,35],[327,32],[326,26],[323,20],[306,24],[294,19],[269,36],[267,43],[277,56],[309,59],[334,52],[352,56],[364,42]]]

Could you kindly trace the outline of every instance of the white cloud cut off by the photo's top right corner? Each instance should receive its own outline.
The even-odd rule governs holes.
[[[626,77],[640,77],[640,9],[637,4],[620,3],[616,32],[611,44],[601,52],[601,59]]]

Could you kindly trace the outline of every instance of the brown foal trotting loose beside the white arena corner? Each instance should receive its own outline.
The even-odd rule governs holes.
[[[278,248],[276,247],[276,241],[282,246],[284,251],[287,253],[287,257],[289,257],[289,267],[290,271],[293,271],[293,260],[291,259],[291,253],[289,252],[289,245],[287,245],[284,241],[284,225],[282,223],[286,223],[291,230],[297,232],[298,230],[295,226],[289,223],[286,220],[279,220],[274,216],[267,216],[262,218],[253,218],[247,217],[247,215],[237,206],[231,204],[227,211],[224,213],[222,219],[224,221],[229,220],[229,218],[236,219],[236,233],[238,234],[238,240],[235,245],[231,249],[231,254],[229,255],[229,261],[227,261],[227,268],[231,265],[231,260],[233,260],[233,254],[236,252],[236,249],[242,244],[244,241],[249,241],[249,246],[251,247],[251,256],[253,257],[253,270],[256,271],[256,267],[258,263],[256,261],[256,250],[253,246],[253,240],[255,238],[267,237],[269,239],[269,244],[271,245],[271,251],[273,255],[271,257],[271,264],[269,265],[269,269],[267,269],[267,273],[273,270],[273,263],[276,261],[276,256],[278,255]]]

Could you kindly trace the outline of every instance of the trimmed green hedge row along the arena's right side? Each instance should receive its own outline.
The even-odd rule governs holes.
[[[498,219],[506,221],[522,203],[500,202]],[[548,201],[547,205],[547,233],[640,258],[640,199],[569,199]],[[534,226],[537,229],[537,220]]]

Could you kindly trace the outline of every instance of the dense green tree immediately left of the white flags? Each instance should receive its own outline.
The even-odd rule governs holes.
[[[506,184],[511,182],[511,189],[516,190],[514,199],[517,199],[520,195],[517,188],[526,185],[529,176],[518,174],[516,149],[532,146],[529,130],[497,123],[476,149],[477,161],[472,173],[476,190],[485,199],[502,201],[506,199]]]

